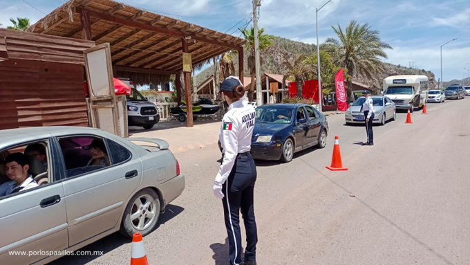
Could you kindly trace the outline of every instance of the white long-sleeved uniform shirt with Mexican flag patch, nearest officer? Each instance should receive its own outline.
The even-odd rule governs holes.
[[[255,116],[254,107],[243,98],[230,104],[218,134],[224,156],[216,182],[225,183],[234,167],[236,155],[250,151]]]

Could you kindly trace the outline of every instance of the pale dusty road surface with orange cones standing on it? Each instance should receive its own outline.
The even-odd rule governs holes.
[[[325,149],[291,163],[257,161],[258,264],[470,264],[470,98],[429,104],[375,126],[328,116]],[[330,172],[339,136],[346,172]],[[144,245],[149,264],[227,264],[220,201],[212,194],[217,145],[178,152],[186,189]],[[102,256],[53,264],[129,264],[131,244],[115,234],[83,248]]]

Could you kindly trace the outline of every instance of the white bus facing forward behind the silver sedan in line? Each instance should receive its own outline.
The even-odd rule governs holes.
[[[426,104],[429,80],[426,75],[393,75],[384,79],[383,91],[397,109],[413,112]]]

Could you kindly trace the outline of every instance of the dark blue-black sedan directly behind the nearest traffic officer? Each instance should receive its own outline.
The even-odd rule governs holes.
[[[292,161],[294,152],[326,146],[328,121],[308,104],[268,104],[256,108],[252,137],[255,159]]]

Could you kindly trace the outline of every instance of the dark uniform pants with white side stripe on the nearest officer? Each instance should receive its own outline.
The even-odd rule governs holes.
[[[249,152],[238,154],[232,172],[225,181],[222,192],[225,228],[229,241],[230,264],[241,264],[240,212],[246,230],[247,246],[245,261],[256,261],[258,233],[254,219],[253,190],[256,181],[256,166]]]

